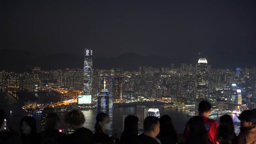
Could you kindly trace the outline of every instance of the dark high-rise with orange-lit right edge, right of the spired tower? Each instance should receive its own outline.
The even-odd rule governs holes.
[[[114,101],[117,99],[122,99],[122,95],[123,95],[122,91],[123,91],[123,77],[121,76],[115,77],[114,91],[113,91]]]

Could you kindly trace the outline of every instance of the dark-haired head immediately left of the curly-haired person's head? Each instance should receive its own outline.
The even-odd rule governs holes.
[[[46,131],[58,131],[60,119],[56,113],[49,113],[45,123]]]

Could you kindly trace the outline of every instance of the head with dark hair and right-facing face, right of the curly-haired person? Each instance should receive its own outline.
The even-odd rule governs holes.
[[[98,113],[96,116],[96,123],[94,128],[96,132],[106,133],[106,131],[110,129],[109,115],[106,113]]]

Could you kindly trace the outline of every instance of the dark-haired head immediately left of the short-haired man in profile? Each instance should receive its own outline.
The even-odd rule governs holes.
[[[125,117],[124,132],[130,135],[138,135],[138,117],[131,115]]]

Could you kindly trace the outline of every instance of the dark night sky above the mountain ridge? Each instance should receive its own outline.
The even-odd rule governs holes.
[[[54,2],[53,2],[54,1]],[[255,0],[1,1],[0,49],[172,57],[256,53]]]

